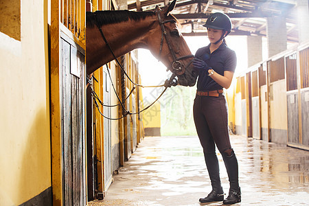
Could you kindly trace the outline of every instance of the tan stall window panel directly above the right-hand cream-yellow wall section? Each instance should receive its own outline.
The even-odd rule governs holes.
[[[277,80],[284,80],[284,58],[279,58],[275,61],[267,62],[268,68],[270,68],[270,80],[276,82]]]

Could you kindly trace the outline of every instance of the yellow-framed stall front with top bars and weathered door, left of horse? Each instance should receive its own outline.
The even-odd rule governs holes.
[[[86,205],[86,2],[50,5],[53,204]]]

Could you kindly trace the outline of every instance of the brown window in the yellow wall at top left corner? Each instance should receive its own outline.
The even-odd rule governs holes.
[[[21,0],[1,1],[0,32],[21,41]]]

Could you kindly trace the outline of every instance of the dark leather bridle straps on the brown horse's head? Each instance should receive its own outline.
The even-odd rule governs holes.
[[[164,26],[165,23],[175,22],[175,20],[169,19],[169,20],[166,20],[166,21],[162,21],[160,11],[157,11],[157,16],[158,16],[159,25],[161,26],[161,31],[162,31],[161,43],[160,43],[160,49],[159,49],[159,57],[161,56],[162,47],[163,47],[163,41],[164,41],[163,36],[165,36],[166,43],[168,44],[168,49],[170,49],[170,53],[172,54],[172,57],[173,57],[173,62],[172,62],[172,65],[171,65],[172,69],[174,69],[176,71],[176,74],[181,75],[181,74],[185,73],[185,69],[187,69],[187,67],[189,67],[192,64],[192,60],[187,65],[185,65],[185,67],[183,67],[184,65],[179,60],[194,57],[194,56],[192,54],[190,54],[190,55],[181,56],[179,58],[176,58],[176,54],[175,54],[174,50],[172,49],[172,46],[170,45],[170,41],[168,41],[168,32],[166,32],[165,26]],[[168,69],[170,70],[170,68],[168,68]],[[174,72],[172,71],[172,73],[174,73]]]

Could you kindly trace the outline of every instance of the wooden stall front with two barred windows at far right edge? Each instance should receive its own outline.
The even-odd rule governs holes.
[[[309,149],[309,46],[286,55],[288,145]]]

